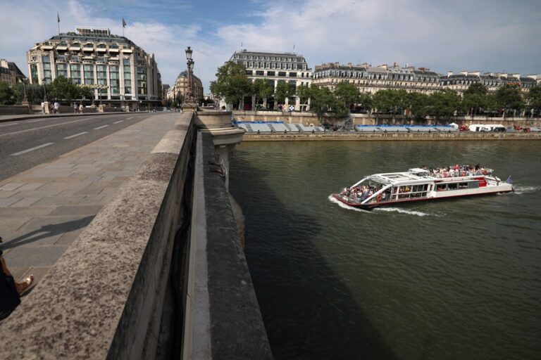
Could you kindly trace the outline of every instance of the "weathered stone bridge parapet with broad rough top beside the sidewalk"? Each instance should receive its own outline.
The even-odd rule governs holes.
[[[0,326],[5,359],[152,359],[194,136],[179,114],[137,172]]]

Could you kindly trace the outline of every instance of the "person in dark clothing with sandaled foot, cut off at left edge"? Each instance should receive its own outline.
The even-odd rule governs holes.
[[[2,238],[0,237],[0,243]],[[34,276],[30,275],[22,283],[15,283],[11,272],[8,270],[6,261],[2,257],[0,249],[0,320],[6,319],[20,304],[20,296],[23,295],[34,282]]]

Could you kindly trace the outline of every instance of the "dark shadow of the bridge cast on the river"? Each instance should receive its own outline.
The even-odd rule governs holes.
[[[230,192],[246,217],[245,252],[275,359],[399,359],[316,248],[330,219],[282,203],[268,173],[233,161]]]

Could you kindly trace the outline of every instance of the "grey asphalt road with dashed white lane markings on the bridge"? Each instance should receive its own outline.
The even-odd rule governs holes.
[[[149,113],[46,117],[0,123],[0,180],[108,136]]]

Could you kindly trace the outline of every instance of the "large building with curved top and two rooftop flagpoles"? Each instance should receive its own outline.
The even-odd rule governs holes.
[[[154,54],[108,29],[77,27],[35,44],[27,51],[31,84],[67,77],[94,88],[109,103],[161,102],[161,75]]]

